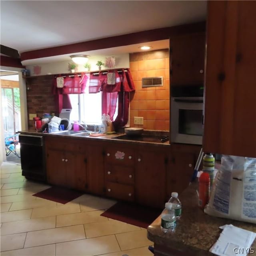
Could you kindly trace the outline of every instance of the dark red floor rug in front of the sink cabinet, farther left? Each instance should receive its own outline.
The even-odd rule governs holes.
[[[76,190],[52,187],[52,188],[47,188],[46,190],[43,190],[41,192],[38,192],[38,193],[34,194],[33,196],[37,196],[37,197],[51,200],[54,202],[58,202],[61,204],[66,204],[82,195],[83,195],[83,193],[80,193]]]

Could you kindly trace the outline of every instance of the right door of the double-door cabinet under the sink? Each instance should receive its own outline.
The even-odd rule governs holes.
[[[65,152],[67,187],[84,191],[86,184],[86,154]]]

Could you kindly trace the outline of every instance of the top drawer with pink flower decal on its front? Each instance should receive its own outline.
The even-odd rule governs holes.
[[[132,166],[134,164],[134,150],[132,148],[116,146],[106,150],[106,162]]]

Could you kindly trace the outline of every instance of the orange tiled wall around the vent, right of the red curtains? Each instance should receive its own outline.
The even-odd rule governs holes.
[[[170,126],[170,75],[169,50],[155,50],[130,54],[130,70],[136,91],[130,103],[130,126],[134,116],[144,118],[143,128],[169,130]],[[161,87],[142,88],[142,77],[163,76]]]

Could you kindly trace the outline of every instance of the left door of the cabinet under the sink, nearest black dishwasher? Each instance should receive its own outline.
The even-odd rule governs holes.
[[[57,186],[66,186],[66,162],[64,152],[48,149],[46,152],[47,181]]]

